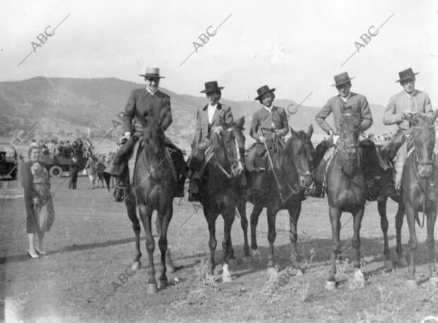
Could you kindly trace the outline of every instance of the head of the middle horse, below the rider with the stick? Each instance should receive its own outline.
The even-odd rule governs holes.
[[[295,165],[300,176],[300,186],[308,187],[312,183],[312,168],[315,159],[315,149],[311,138],[313,125],[309,126],[307,133],[304,131],[294,131],[290,127],[292,136],[285,146],[285,163],[289,161]]]

